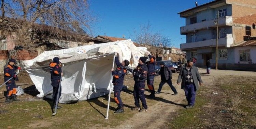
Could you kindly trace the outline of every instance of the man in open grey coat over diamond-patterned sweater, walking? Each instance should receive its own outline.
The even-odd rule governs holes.
[[[198,82],[200,86],[203,84],[198,68],[193,66],[193,60],[187,60],[187,66],[181,68],[177,84],[180,85],[180,82],[181,89],[185,91],[188,102],[186,108],[193,108],[196,100],[196,91],[199,88]]]

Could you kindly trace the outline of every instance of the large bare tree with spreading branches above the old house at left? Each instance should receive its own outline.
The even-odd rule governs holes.
[[[26,49],[49,39],[82,41],[95,21],[87,0],[1,0],[1,15],[1,38]]]

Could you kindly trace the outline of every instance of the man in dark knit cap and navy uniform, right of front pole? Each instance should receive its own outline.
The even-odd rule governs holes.
[[[144,96],[145,91],[145,80],[147,79],[148,69],[145,64],[147,57],[140,57],[139,64],[135,70],[129,69],[129,71],[133,74],[134,88],[133,88],[133,97],[134,104],[136,107],[132,108],[133,111],[139,110],[139,112],[147,111],[147,103]],[[142,103],[142,108],[140,108],[140,100]]]

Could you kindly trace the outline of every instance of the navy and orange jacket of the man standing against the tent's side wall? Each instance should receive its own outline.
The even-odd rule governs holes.
[[[61,75],[61,72],[62,72],[60,64],[57,64],[55,62],[51,62],[49,64],[49,66],[50,66],[52,84],[59,83],[60,75]]]

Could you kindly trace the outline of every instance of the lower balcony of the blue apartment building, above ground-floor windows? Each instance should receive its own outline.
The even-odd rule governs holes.
[[[227,34],[226,38],[218,39],[218,47],[225,46],[226,48],[230,48],[231,44],[233,44],[232,34]],[[189,49],[205,48],[205,47],[216,47],[216,39],[181,44],[181,50],[189,50]]]

